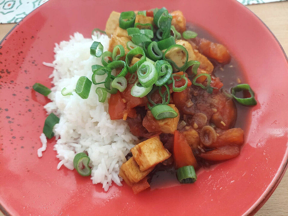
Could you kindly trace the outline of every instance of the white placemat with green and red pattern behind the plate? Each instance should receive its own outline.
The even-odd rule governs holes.
[[[0,0],[0,23],[16,23],[48,0]],[[60,0],[59,0],[60,1]],[[244,5],[285,0],[237,0]]]

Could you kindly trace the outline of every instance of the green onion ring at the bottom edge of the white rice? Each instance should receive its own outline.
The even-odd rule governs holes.
[[[78,153],[73,160],[73,166],[81,176],[90,176],[91,168],[89,167],[90,158],[84,153]]]

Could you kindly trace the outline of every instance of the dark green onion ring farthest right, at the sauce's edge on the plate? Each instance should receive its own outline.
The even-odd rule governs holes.
[[[236,97],[236,92],[238,91],[249,91],[251,97],[250,98],[238,98]],[[254,97],[254,91],[251,89],[250,85],[248,84],[239,84],[232,88],[232,95],[233,98],[239,103],[244,106],[254,106],[257,104],[257,101]]]

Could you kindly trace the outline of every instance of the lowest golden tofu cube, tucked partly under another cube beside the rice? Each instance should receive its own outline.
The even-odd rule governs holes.
[[[147,176],[153,169],[154,167],[151,167],[148,170],[141,171],[139,165],[136,163],[134,158],[131,157],[120,167],[119,176],[122,177],[130,187],[132,187],[134,183],[144,179],[144,177]]]

